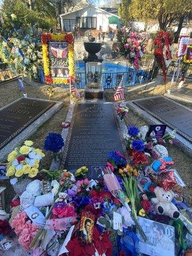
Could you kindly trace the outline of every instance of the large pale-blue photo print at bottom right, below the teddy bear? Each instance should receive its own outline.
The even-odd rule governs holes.
[[[143,241],[138,233],[141,253],[150,256],[175,256],[174,227],[141,217],[138,217],[138,222],[147,236],[147,241]]]

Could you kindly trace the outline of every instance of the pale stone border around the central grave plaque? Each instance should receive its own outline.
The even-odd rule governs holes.
[[[81,101],[79,103],[103,103],[103,104],[109,104],[109,103],[113,103],[115,105],[115,102],[103,102],[102,100],[84,100]],[[74,113],[74,108],[75,108],[75,104],[70,104],[70,107],[68,109],[68,113],[67,113],[67,117],[65,119],[65,122],[74,122],[74,118],[73,117],[73,113]],[[115,113],[113,113],[113,115],[115,115]],[[122,148],[125,151],[125,140],[124,140],[124,134],[127,132],[127,125],[125,125],[124,120],[120,120],[119,118],[115,118],[115,122],[117,122],[117,129],[118,129],[118,133],[120,135],[120,141],[122,141]],[[63,128],[61,131],[61,136],[64,140],[64,143],[68,144],[69,140],[70,140],[70,127],[68,128]],[[64,152],[64,154],[66,154],[67,156],[67,150],[68,150],[68,145],[64,145],[64,147],[61,150],[66,150],[66,152]],[[125,154],[125,152],[124,152]],[[50,170],[59,170],[60,168],[60,164],[63,162],[63,157],[61,159],[61,161],[56,161],[54,159],[52,159],[52,163],[50,166]]]

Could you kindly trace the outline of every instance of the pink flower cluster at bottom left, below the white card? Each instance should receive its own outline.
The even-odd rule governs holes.
[[[36,236],[38,232],[38,227],[36,224],[31,224],[31,221],[26,221],[24,228],[19,236],[19,244],[23,246],[25,250],[29,250],[31,241]]]

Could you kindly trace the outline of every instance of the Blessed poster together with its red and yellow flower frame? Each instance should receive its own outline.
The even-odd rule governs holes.
[[[72,33],[42,33],[45,81],[70,84],[74,81],[74,36]]]

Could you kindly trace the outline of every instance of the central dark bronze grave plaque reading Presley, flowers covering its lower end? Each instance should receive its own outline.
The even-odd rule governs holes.
[[[116,150],[124,154],[114,105],[76,104],[60,167],[75,172],[87,166],[88,177],[99,179],[109,152]]]

